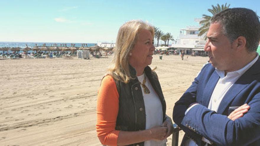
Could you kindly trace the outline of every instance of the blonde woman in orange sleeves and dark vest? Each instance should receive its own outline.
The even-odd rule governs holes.
[[[172,121],[158,77],[151,25],[132,20],[118,31],[115,54],[98,92],[97,133],[103,145],[166,145]]]

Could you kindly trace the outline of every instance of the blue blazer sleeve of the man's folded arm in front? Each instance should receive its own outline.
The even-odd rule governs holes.
[[[250,145],[260,139],[260,93],[248,103],[243,117],[230,120],[205,106],[196,105],[184,116],[181,124],[218,145]]]

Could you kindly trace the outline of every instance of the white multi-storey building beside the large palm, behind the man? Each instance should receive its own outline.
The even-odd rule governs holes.
[[[195,22],[199,22],[202,19],[195,19]],[[199,28],[201,26],[188,26],[180,30],[179,38],[172,42],[171,47],[177,48],[178,51],[184,50],[186,54],[200,54],[203,55],[203,48],[206,44],[204,35],[198,36]],[[194,50],[193,50],[194,49]]]

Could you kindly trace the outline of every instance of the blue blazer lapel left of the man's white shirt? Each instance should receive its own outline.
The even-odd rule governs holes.
[[[215,86],[219,80],[219,75],[217,74],[216,70],[212,73],[211,77],[209,78],[209,81],[207,82],[207,90],[203,93],[203,99],[202,99],[202,105],[208,107],[209,106],[209,100],[211,98],[212,92],[215,89]]]

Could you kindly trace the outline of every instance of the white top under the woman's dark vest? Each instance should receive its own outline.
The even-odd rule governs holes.
[[[139,82],[143,83],[144,74],[137,76]],[[146,77],[145,86],[150,90],[149,94],[144,94],[144,89],[142,88],[142,93],[144,97],[144,106],[146,114],[145,129],[150,129],[155,126],[160,126],[163,124],[163,106],[159,99],[159,96],[156,94],[149,79]],[[163,141],[145,141],[144,146],[162,146],[166,145],[167,139]]]

